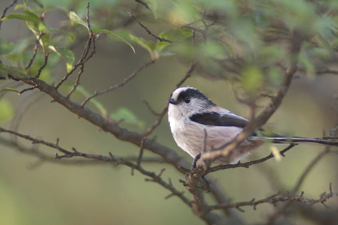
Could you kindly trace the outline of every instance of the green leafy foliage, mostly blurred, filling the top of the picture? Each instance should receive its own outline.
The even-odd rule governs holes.
[[[260,94],[271,94],[280,84],[288,66],[288,47],[293,35],[300,35],[304,40],[298,56],[301,73],[314,77],[317,71],[337,61],[337,0],[144,2],[151,10],[135,1],[91,1],[90,23],[96,42],[108,40],[113,45],[122,41],[121,45],[130,46],[136,56],[141,54],[138,49],[145,49],[152,60],[174,57],[182,64],[197,61],[196,71],[200,76],[227,80],[240,100],[256,101]],[[34,77],[49,52],[40,79],[50,84],[57,83],[72,70],[78,60],[75,49],[83,46],[89,38],[86,5],[87,1],[82,0],[19,0],[8,10],[2,26],[10,20],[19,20],[30,33],[10,40],[1,29],[0,59],[4,64],[0,65],[0,123],[13,117],[11,97],[13,92],[18,93],[16,83],[9,82],[8,75],[19,79]],[[128,15],[127,9],[155,36],[172,43],[148,35]],[[55,17],[49,18],[52,14],[58,15],[57,21],[54,21]],[[130,43],[135,43],[136,50]],[[128,65],[134,66],[134,62],[128,61]],[[92,73],[93,77],[97,77],[97,70],[99,68]],[[109,71],[111,73],[119,74],[120,71]],[[158,79],[169,80],[160,75]],[[69,91],[73,83],[66,81],[64,85],[63,90]],[[88,97],[92,91],[90,88],[79,85],[76,92]],[[124,121],[122,125],[145,127],[139,112],[129,106],[114,105],[111,109],[98,98],[91,99],[90,103],[104,118]]]

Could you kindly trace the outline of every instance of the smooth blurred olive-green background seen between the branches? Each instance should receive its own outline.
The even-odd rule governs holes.
[[[9,2],[0,2],[1,11]],[[68,11],[74,10],[81,19],[84,19],[86,14],[87,2],[85,1],[58,1],[57,3],[42,1],[42,3],[45,6],[57,4],[67,8]],[[33,7],[33,4],[30,4]],[[135,1],[91,1],[90,5],[92,27],[96,30],[111,29],[109,26],[114,27],[114,23],[130,19],[127,9],[133,12],[133,9],[139,10],[143,7]],[[7,13],[10,12],[14,12],[14,9],[11,8]],[[105,13],[108,16],[116,13],[119,17],[105,17]],[[156,25],[156,21],[151,23],[149,18],[142,19],[153,33],[158,34],[163,31],[161,30],[163,27]],[[61,9],[51,9],[46,13],[45,22],[53,28],[61,28],[65,20],[68,20],[68,16]],[[108,27],[102,27],[102,24]],[[84,28],[79,29],[83,31]],[[129,29],[134,35],[154,41],[134,21]],[[75,61],[78,60],[87,42],[86,32],[83,32],[79,39],[76,38],[75,44],[72,45],[71,50],[75,54]],[[7,42],[14,43],[20,42],[27,36],[34,38],[25,23],[16,19],[4,21],[0,34]],[[100,40],[96,41],[97,53],[86,63],[81,77],[81,86],[90,93],[120,83],[139,66],[150,61],[149,53],[135,43],[136,54],[126,44],[101,36]],[[6,59],[2,60],[5,63],[10,62]],[[184,76],[188,67],[188,60],[160,57],[126,85],[97,99],[106,107],[108,113],[117,111],[120,107],[133,112],[139,121],[144,122],[144,125],[137,126],[122,122],[121,126],[143,132],[157,119],[149,112],[143,101],[146,100],[152,109],[160,112],[175,84]],[[53,69],[50,79],[57,83],[65,74],[66,67],[62,62]],[[337,94],[337,76],[298,75],[300,76],[294,79],[281,107],[270,118],[266,127],[281,134],[320,137],[323,131],[327,134],[337,121],[335,108],[338,107],[338,103],[333,98]],[[61,93],[67,94],[68,90],[65,86],[71,85],[75,78],[76,75],[73,74],[67,80],[67,84],[60,90]],[[0,86],[3,88],[11,84],[13,81],[4,81]],[[184,86],[187,85],[199,89],[219,106],[243,117],[248,116],[247,107],[236,101],[228,81],[215,80],[194,73],[184,83]],[[84,97],[74,93],[71,100],[80,103]],[[114,156],[120,157],[138,156],[137,146],[121,142],[86,120],[78,119],[63,106],[51,103],[49,96],[37,90],[22,95],[6,93],[2,96],[2,101],[10,101],[13,109],[18,113],[24,111],[19,123],[20,133],[52,143],[59,138],[59,145],[63,148],[75,147],[85,153],[108,155],[108,152],[112,152]],[[36,102],[27,107],[32,101]],[[267,101],[268,99],[263,99],[260,104],[264,106]],[[98,112],[91,103],[87,103],[86,107]],[[16,118],[14,122],[15,120]],[[1,121],[0,126],[13,128],[14,122],[8,119]],[[152,136],[156,136],[159,143],[176,150],[186,160],[192,161],[192,158],[175,144],[167,117],[151,134]],[[1,133],[1,137],[9,138],[9,135]],[[31,147],[29,142],[18,140],[27,148]],[[35,147],[51,158],[56,152],[55,149],[43,145]],[[277,147],[283,149],[283,146]],[[250,169],[218,171],[212,174],[213,179],[217,179],[223,185],[224,191],[234,202],[249,201],[252,198],[261,199],[278,191],[282,191],[281,196],[284,196],[323,148],[316,145],[298,145],[288,151],[286,157],[280,161],[270,159],[265,163],[251,166]],[[131,176],[131,170],[125,166],[102,162],[76,163],[79,158],[44,161],[3,143],[0,143],[0,150],[0,224],[203,224],[203,221],[178,198],[171,197],[166,200],[165,196],[170,193],[162,186],[146,182],[145,176],[137,171],[134,176]],[[270,146],[264,145],[248,160],[265,157],[270,154],[270,151]],[[153,156],[153,154],[145,151],[144,156]],[[305,192],[305,198],[318,199],[319,194],[329,191],[330,182],[333,183],[334,191],[338,190],[337,161],[337,154],[328,154],[311,170],[300,187],[300,191]],[[142,166],[154,172],[166,168],[162,175],[164,179],[168,180],[170,177],[177,189],[185,190],[178,181],[184,179],[184,174],[179,173],[176,168],[158,163],[142,163]],[[190,196],[187,192],[186,195]],[[207,199],[210,198],[209,195],[206,194]],[[326,204],[337,208],[337,198],[328,200]],[[326,210],[320,204],[315,204],[313,208]],[[258,205],[257,210],[248,206],[243,209],[245,213],[240,211],[237,213],[245,222],[258,223],[262,222],[262,218],[266,218],[274,208],[266,203]],[[297,215],[290,216],[291,221],[295,218]],[[311,224],[311,222],[298,218],[298,224]]]

